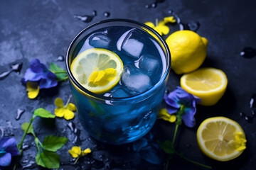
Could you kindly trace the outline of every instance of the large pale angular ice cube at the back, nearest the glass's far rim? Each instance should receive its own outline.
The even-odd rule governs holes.
[[[142,33],[136,29],[127,30],[117,41],[117,49],[139,59],[144,47],[143,42]]]

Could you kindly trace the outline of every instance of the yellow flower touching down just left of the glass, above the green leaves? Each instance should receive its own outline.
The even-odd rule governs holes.
[[[76,111],[75,109],[75,105],[73,103],[69,103],[70,98],[68,99],[67,104],[64,106],[63,104],[63,99],[62,98],[56,98],[54,101],[55,106],[57,106],[57,108],[55,108],[55,115],[59,118],[65,118],[66,120],[70,120],[73,119],[75,117],[75,113],[74,111]]]

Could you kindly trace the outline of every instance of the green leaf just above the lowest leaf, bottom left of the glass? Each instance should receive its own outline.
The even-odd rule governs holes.
[[[56,152],[58,149],[63,147],[66,142],[68,142],[67,137],[55,137],[53,135],[49,135],[43,139],[43,148],[48,151]]]

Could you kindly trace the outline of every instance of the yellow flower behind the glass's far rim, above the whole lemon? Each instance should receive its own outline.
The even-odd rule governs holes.
[[[151,22],[146,22],[146,26],[149,26],[151,28],[153,28],[154,30],[156,30],[157,33],[159,33],[160,35],[166,35],[169,33],[170,29],[168,26],[166,26],[166,23],[175,23],[176,20],[174,18],[174,16],[168,16],[164,18],[164,21],[157,21],[156,20],[156,26],[154,26],[154,23]]]

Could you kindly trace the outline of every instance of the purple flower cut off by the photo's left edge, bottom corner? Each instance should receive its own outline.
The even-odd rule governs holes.
[[[18,148],[14,137],[3,137],[0,139],[0,167],[9,166],[11,157],[18,156]]]

